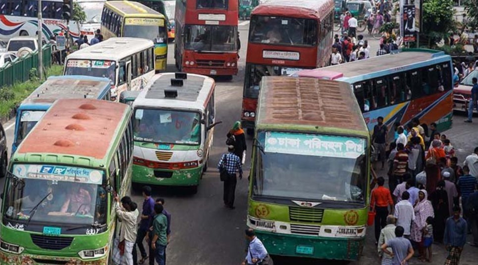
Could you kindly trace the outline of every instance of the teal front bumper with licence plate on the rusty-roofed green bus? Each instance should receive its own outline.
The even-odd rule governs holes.
[[[358,260],[365,244],[363,238],[333,238],[289,235],[255,230],[271,255],[327,260]]]

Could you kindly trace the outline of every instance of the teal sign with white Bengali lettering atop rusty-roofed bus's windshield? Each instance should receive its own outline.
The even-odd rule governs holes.
[[[337,135],[266,132],[265,151],[295,155],[357,158],[365,153],[365,139]]]

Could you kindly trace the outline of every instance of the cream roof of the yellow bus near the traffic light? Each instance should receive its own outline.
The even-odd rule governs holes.
[[[151,17],[164,18],[164,16],[148,6],[134,1],[106,1],[105,6],[124,17]]]

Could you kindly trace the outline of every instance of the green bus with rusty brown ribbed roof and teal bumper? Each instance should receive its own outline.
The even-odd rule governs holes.
[[[369,146],[349,84],[263,77],[247,225],[269,254],[359,258],[368,218]]]

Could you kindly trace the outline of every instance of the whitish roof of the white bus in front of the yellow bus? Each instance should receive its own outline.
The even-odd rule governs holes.
[[[153,47],[153,41],[139,38],[109,38],[101,43],[77,50],[66,57],[80,60],[117,61],[128,55]],[[68,65],[66,65],[68,66]]]

